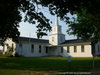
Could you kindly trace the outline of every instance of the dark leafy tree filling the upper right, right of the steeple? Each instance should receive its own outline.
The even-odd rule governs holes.
[[[57,14],[69,24],[68,33],[81,39],[100,40],[100,0],[40,0],[51,14]],[[67,13],[77,14],[73,21]]]

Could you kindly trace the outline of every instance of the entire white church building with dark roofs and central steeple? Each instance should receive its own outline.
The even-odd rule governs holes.
[[[7,46],[13,49],[15,53],[24,57],[44,57],[44,56],[62,56],[62,57],[93,57],[100,56],[100,42],[92,47],[91,41],[83,41],[80,39],[65,40],[62,28],[58,24],[56,17],[55,25],[52,27],[52,33],[49,40],[37,39],[30,37],[19,37],[18,43],[7,39],[4,45],[4,54],[7,52]]]

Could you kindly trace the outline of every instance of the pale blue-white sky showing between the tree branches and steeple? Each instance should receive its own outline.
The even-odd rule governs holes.
[[[47,18],[49,18],[52,21],[51,26],[53,26],[55,23],[55,16],[50,15],[49,11],[47,11],[47,10],[46,11],[43,10],[43,13],[45,14],[45,16]],[[70,14],[69,14],[69,16],[71,17]],[[72,35],[70,36],[67,34],[66,30],[68,27],[67,27],[66,23],[64,23],[63,21],[60,21],[59,18],[58,18],[58,22],[59,22],[59,25],[62,26],[62,33],[66,35],[66,40],[76,38]],[[37,38],[36,30],[37,29],[36,29],[35,24],[29,24],[28,22],[23,22],[23,21],[20,23],[20,28],[19,28],[20,36]],[[50,32],[47,32],[47,33],[49,36]],[[43,36],[42,39],[48,39],[48,36]]]

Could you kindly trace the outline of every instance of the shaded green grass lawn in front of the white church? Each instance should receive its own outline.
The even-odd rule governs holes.
[[[92,58],[72,58],[72,62],[68,63],[67,58],[4,58],[4,56],[0,55],[0,75],[26,75],[35,71],[89,72],[92,65]],[[95,58],[95,68],[100,68],[100,58]]]

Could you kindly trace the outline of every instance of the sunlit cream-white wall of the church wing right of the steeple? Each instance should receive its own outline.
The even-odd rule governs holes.
[[[72,57],[92,57],[91,45],[84,45],[84,52],[81,52],[81,45],[76,45],[76,51],[74,52],[74,46],[69,46],[69,53],[67,53],[67,46],[63,47],[63,53],[60,55],[67,57],[68,55]]]

